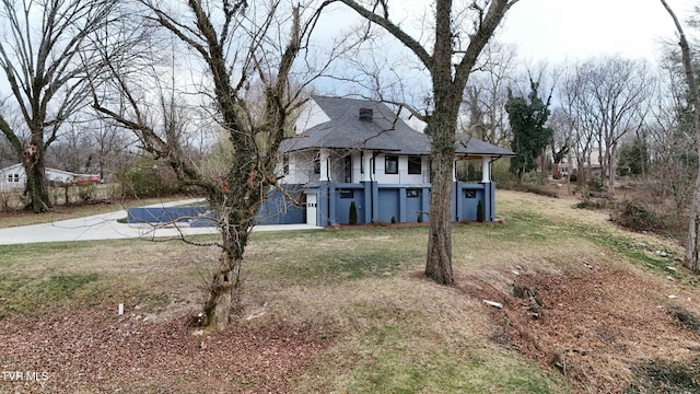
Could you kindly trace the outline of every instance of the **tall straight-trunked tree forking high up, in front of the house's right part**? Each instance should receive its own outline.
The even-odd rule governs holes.
[[[388,2],[385,0],[374,0],[368,7],[355,0],[328,2],[335,1],[347,4],[369,22],[388,32],[413,53],[430,73],[433,108],[428,116],[420,116],[421,120],[427,123],[425,132],[432,139],[432,188],[425,276],[439,283],[451,285],[454,281],[452,179],[462,95],[481,50],[506,11],[517,0],[475,0],[466,2],[465,5],[453,4],[452,0],[435,0],[432,43],[421,43],[420,37],[411,36],[398,22],[392,20]]]

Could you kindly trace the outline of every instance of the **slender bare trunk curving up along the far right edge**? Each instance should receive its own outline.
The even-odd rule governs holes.
[[[682,57],[682,66],[688,84],[688,102],[691,105],[695,126],[695,143],[698,155],[700,157],[700,99],[698,97],[698,83],[692,68],[692,54],[686,34],[670,7],[665,0],[661,0],[668,14],[674,20],[676,30],[678,31],[680,53]],[[698,247],[700,246],[700,169],[696,177],[696,187],[692,195],[692,208],[690,211],[690,224],[688,227],[688,241],[686,245],[686,256],[684,264],[693,271],[699,270],[698,266]]]

